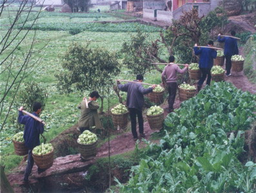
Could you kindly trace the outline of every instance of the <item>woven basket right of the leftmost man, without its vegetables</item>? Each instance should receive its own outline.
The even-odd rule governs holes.
[[[43,154],[41,156],[35,155],[32,152],[32,156],[37,167],[40,169],[48,169],[52,167],[52,164],[54,163],[54,148],[52,148],[52,151],[48,152],[48,154]]]

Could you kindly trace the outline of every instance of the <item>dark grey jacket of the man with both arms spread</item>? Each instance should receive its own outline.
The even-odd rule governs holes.
[[[134,81],[138,82],[138,80]],[[143,109],[144,104],[143,95],[146,95],[153,91],[152,87],[146,89],[141,84],[132,82],[123,85],[119,84],[118,88],[121,91],[127,92],[126,105],[128,106],[128,108],[135,108],[140,111]]]

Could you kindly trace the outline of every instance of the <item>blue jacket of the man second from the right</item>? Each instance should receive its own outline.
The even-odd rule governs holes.
[[[213,59],[217,57],[217,51],[212,48],[200,48],[194,47],[195,55],[200,55],[199,68],[212,68]]]

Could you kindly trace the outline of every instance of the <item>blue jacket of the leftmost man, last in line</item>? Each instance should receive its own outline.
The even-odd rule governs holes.
[[[36,113],[32,114],[38,116]],[[23,115],[21,111],[19,111],[18,122],[25,125],[23,134],[25,146],[28,149],[34,149],[35,146],[40,145],[39,134],[44,132],[44,125],[31,116]]]

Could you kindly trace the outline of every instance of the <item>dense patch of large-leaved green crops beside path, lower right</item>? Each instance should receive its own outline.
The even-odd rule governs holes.
[[[255,192],[256,164],[241,162],[255,100],[220,82],[183,102],[167,116],[160,144],[141,151],[128,183],[117,180],[120,192]]]

